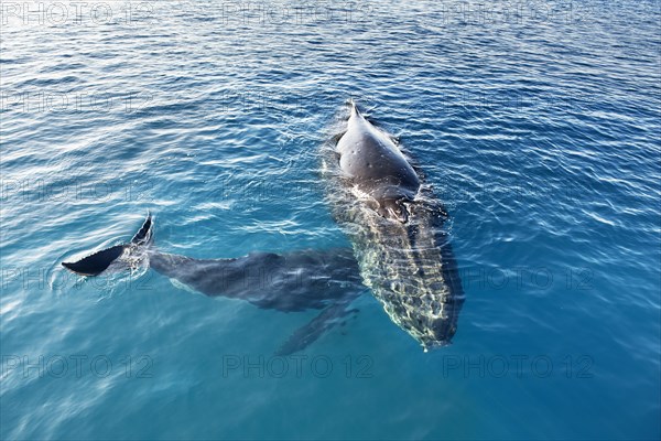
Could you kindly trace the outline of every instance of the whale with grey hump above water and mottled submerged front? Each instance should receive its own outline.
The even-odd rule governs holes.
[[[425,351],[447,345],[464,302],[447,214],[394,139],[349,105],[346,131],[322,154],[333,215],[392,322]]]

